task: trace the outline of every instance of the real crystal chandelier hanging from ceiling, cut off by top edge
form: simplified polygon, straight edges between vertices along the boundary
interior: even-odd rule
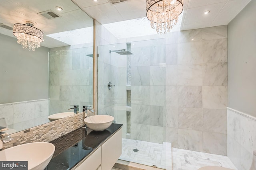
[[[157,33],[166,34],[178,23],[183,0],[146,0],[146,7],[151,28],[156,28]]]

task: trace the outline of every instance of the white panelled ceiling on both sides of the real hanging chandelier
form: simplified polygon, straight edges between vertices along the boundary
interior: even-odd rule
[[[251,0],[184,0],[181,30],[227,25]],[[101,24],[146,17],[146,0],[110,4],[108,0],[74,0]],[[207,16],[204,11],[210,11]]]

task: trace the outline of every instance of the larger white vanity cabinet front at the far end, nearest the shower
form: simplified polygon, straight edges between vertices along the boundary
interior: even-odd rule
[[[102,145],[101,170],[111,170],[122,154],[122,129]],[[80,169],[79,169],[80,170]]]

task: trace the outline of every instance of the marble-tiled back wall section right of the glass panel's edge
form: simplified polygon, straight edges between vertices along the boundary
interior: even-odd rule
[[[227,26],[174,32],[166,49],[165,140],[226,155]]]

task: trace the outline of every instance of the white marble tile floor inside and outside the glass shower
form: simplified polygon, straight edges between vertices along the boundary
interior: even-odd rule
[[[169,156],[168,159],[162,160],[162,162],[167,162],[168,166],[166,166],[166,170],[198,170],[198,168],[202,166],[222,166],[225,168],[231,168],[231,169],[237,170],[237,168],[234,166],[234,164],[231,162],[231,160],[227,156],[209,154],[204,152],[196,152],[192,150],[177,149],[177,148],[170,149],[171,145],[170,143],[167,143],[167,145],[168,144],[169,146],[167,147],[167,150],[172,150],[172,152],[168,152],[168,154],[171,154],[172,156],[170,157],[170,155],[168,155],[166,151],[164,152],[166,154],[165,156]],[[131,140],[131,139],[123,139],[122,145],[123,145],[122,155],[120,156],[119,159],[126,160],[129,162],[135,162],[135,163],[129,163],[129,162],[124,163],[132,167],[128,169],[133,170],[133,168],[136,169],[138,167],[142,167],[142,165],[140,164],[144,164],[150,167],[143,168],[143,169],[151,170],[153,161],[156,161],[156,162],[158,161],[158,163],[160,162],[159,161],[160,156],[149,156],[150,155],[149,152],[146,151],[149,149],[144,150],[143,151],[144,154],[138,154],[138,152],[133,152],[132,149],[134,149],[134,146],[136,146],[138,150],[140,150],[140,148],[143,148],[143,147],[145,148],[150,147],[150,149],[153,149],[153,148],[155,149],[154,155],[157,155],[157,154],[159,155],[158,152],[160,152],[159,150],[160,150],[161,144],[148,143],[144,141],[137,141],[137,140]],[[163,144],[162,148],[166,149],[166,144]],[[148,158],[148,161],[146,160],[147,158]],[[170,159],[172,160],[170,161]],[[120,160],[118,161],[120,162]],[[170,163],[172,166],[169,165]],[[156,163],[154,162],[154,164]],[[157,167],[165,169],[165,167],[163,166],[160,167],[160,166],[157,166]],[[143,167],[146,167],[146,166],[143,166]],[[120,169],[113,168],[113,170],[120,170]]]

